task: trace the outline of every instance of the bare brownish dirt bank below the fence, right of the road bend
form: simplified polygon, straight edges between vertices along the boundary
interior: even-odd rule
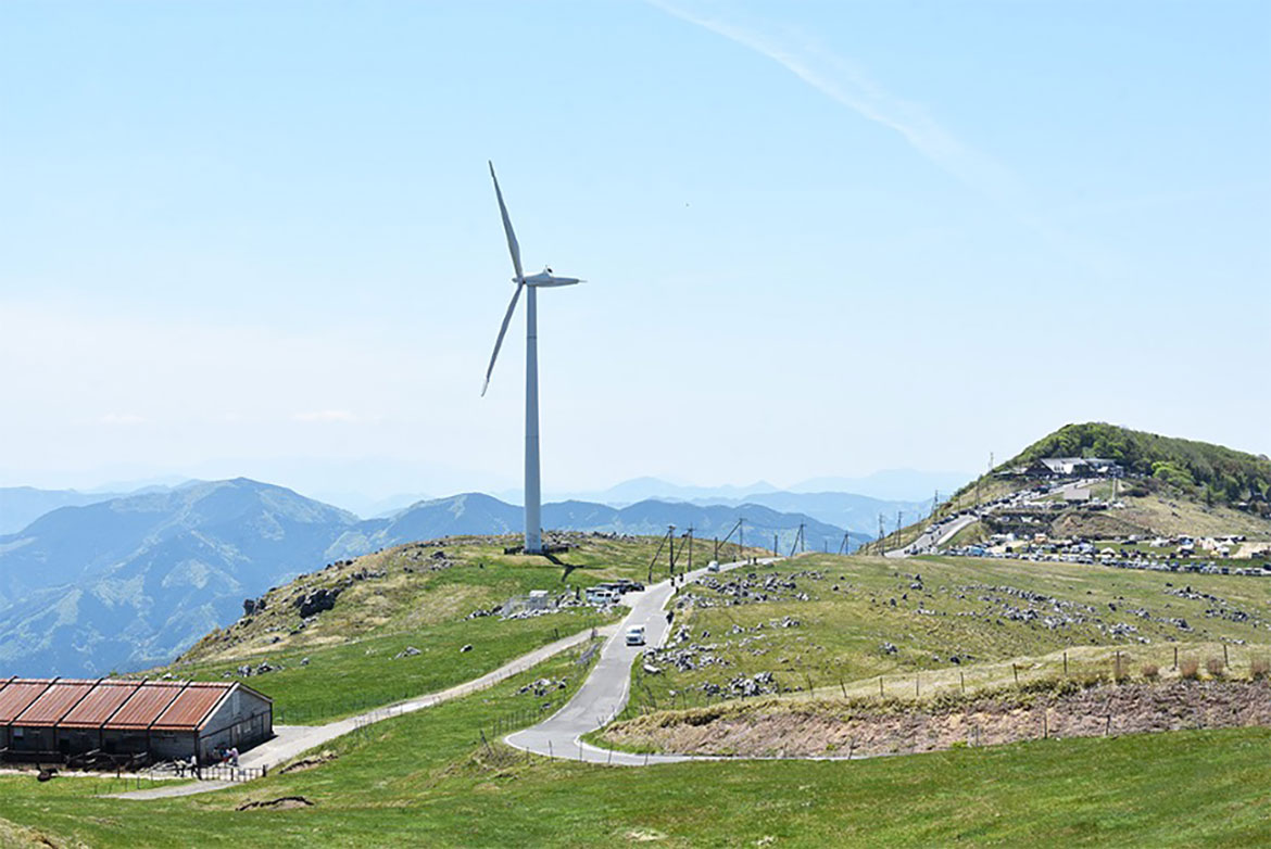
[[[990,746],[1040,737],[1271,726],[1266,681],[1171,681],[1060,688],[967,699],[961,704],[858,707],[819,702],[719,712],[702,722],[652,714],[605,738],[662,752],[741,756],[869,756]]]

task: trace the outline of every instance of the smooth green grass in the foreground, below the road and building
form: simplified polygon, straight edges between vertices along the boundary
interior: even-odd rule
[[[0,778],[0,817],[52,845],[128,849],[1271,841],[1266,730],[1038,741],[853,763],[647,769],[526,759],[482,745],[479,728],[525,704],[520,684],[571,671],[572,690],[582,670],[561,658],[487,693],[336,741],[338,757],[320,768],[207,796],[126,802],[94,798],[89,779]],[[314,805],[235,811],[282,796]]]

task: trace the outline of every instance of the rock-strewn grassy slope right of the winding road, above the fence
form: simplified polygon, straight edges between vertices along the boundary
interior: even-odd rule
[[[877,694],[882,676],[886,694],[902,695],[914,691],[915,672],[921,674],[919,689],[924,681],[961,686],[962,677],[970,688],[996,686],[1013,681],[1017,671],[1021,680],[1055,675],[1065,649],[1073,675],[1110,674],[1118,651],[1132,670],[1153,662],[1168,675],[1174,646],[1204,662],[1223,656],[1224,643],[1232,665],[1248,670],[1271,643],[1271,581],[1261,578],[1077,563],[826,554],[721,577],[735,581],[749,574],[758,583],[769,576],[792,578],[796,590],[783,590],[787,597],[773,601],[679,609],[672,630],[686,625],[690,639],[671,648],[695,644],[697,669],[680,671],[661,662],[661,671],[651,675],[637,663],[632,710],[700,705],[712,700],[703,685],[760,672],[771,672],[784,693]],[[694,585],[679,599],[686,592],[728,601]],[[808,600],[791,599],[793,592]],[[1059,611],[1055,601],[1063,605]],[[1054,627],[1045,621],[1065,615],[1083,621]],[[782,627],[787,618],[798,625]],[[1178,627],[1179,620],[1187,629]]]

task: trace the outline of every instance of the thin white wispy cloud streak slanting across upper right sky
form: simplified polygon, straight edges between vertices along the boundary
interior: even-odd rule
[[[770,58],[831,100],[896,132],[923,158],[998,205],[1060,253],[1101,276],[1108,273],[1108,258],[1078,244],[1070,234],[1046,220],[1008,168],[965,144],[921,105],[888,92],[817,38],[784,24],[749,19],[735,8],[718,13],[669,0],[644,1]]]

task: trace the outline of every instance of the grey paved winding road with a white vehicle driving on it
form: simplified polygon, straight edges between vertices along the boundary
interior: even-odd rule
[[[775,559],[764,558],[758,562],[765,564]],[[719,568],[727,571],[742,566],[750,566],[750,562],[727,563]],[[693,581],[705,573],[707,569],[695,569],[684,576],[684,581]],[[503,740],[510,746],[536,755],[585,760],[594,764],[642,766],[644,764],[671,764],[690,760],[685,755],[646,756],[610,751],[580,740],[582,735],[608,723],[627,707],[632,663],[644,651],[643,646],[627,644],[627,629],[633,625],[644,625],[647,643],[653,647],[663,646],[670,630],[663,608],[674,595],[675,591],[670,581],[655,583],[641,594],[628,594],[624,601],[629,600],[632,611],[623,620],[618,633],[605,642],[600,651],[600,660],[587,680],[583,681],[582,688],[548,719],[531,728],[513,732]]]

